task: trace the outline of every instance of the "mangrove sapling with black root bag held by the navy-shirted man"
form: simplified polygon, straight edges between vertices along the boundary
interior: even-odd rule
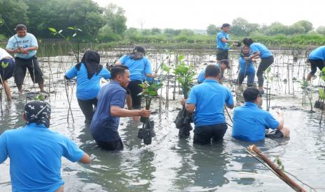
[[[164,84],[158,84],[154,81],[151,85],[145,82],[139,86],[144,89],[143,93],[140,93],[139,95],[143,95],[145,97],[145,109],[149,110],[152,102],[152,97],[158,96],[157,91],[159,88],[164,86]],[[138,138],[143,139],[143,143],[145,143],[145,145],[150,145],[152,142],[152,137],[155,136],[154,121],[150,120],[149,118],[141,117],[140,122],[143,122],[143,127],[138,131]]]

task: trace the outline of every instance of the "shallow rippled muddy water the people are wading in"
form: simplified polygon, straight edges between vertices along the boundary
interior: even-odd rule
[[[236,56],[233,58],[236,63]],[[44,58],[42,65],[46,82],[52,92],[47,99],[52,106],[50,129],[71,138],[92,158],[90,165],[71,163],[62,159],[62,177],[66,183],[66,191],[291,191],[287,184],[247,154],[245,149],[252,143],[231,138],[231,127],[223,141],[208,146],[193,145],[193,133],[190,138],[179,139],[178,129],[175,128],[173,120],[180,108],[177,101],[181,98],[180,95],[176,95],[175,102],[169,101],[169,109],[162,106],[160,115],[159,101],[158,99],[154,101],[152,118],[155,120],[154,129],[157,136],[153,139],[152,145],[144,145],[136,137],[138,127],[141,127],[140,123],[133,122],[131,118],[121,118],[119,130],[124,142],[124,151],[112,153],[99,150],[78,108],[75,87],[72,89],[74,82],[68,87],[69,97],[72,95],[73,118],[71,114],[67,118],[68,99],[62,73],[64,69],[73,65],[73,61],[69,61],[66,57],[62,57],[61,60],[59,57],[50,58],[49,62],[47,59]],[[305,65],[303,59],[298,60],[298,63]],[[200,57],[198,65],[203,67],[204,63],[211,60],[213,56]],[[274,76],[269,85],[272,87],[273,95],[270,112],[275,113],[277,108],[284,111],[284,123],[291,129],[291,137],[279,140],[266,138],[266,141],[254,144],[258,145],[270,159],[279,157],[287,172],[296,175],[317,191],[325,191],[325,128],[324,124],[319,127],[321,113],[317,109],[315,113],[310,113],[309,106],[301,104],[299,83],[294,83],[294,87],[284,83],[287,73],[291,73],[291,70],[297,79],[302,79],[303,71],[309,68],[298,68],[298,64],[292,63],[289,56],[278,55],[275,61],[270,72]],[[52,77],[49,63],[52,67]],[[287,70],[286,63],[289,63],[292,69]],[[236,67],[233,67],[232,72],[227,72],[226,78],[236,79]],[[292,79],[291,74],[289,79]],[[13,79],[10,79],[10,83],[13,83]],[[317,79],[314,83],[316,86]],[[229,81],[226,85],[231,86]],[[29,92],[38,90],[33,88],[29,79],[24,88],[26,91],[23,95],[18,95],[16,88],[13,88],[13,102],[6,104],[2,101],[0,133],[24,125],[21,118],[24,104],[30,100]],[[232,86],[231,89],[235,95],[236,87]],[[171,88],[170,99],[173,97],[172,91]],[[166,104],[166,94],[162,95],[165,98],[163,104]],[[317,94],[314,93],[313,97],[315,100]],[[10,112],[6,109],[7,105]],[[228,116],[226,119],[231,125]],[[1,191],[10,191],[8,159],[0,165],[0,173]]]

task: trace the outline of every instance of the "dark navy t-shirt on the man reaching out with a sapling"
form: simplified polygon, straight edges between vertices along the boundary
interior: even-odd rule
[[[110,142],[120,139],[117,131],[120,117],[110,115],[110,106],[123,109],[126,95],[127,91],[114,80],[101,88],[97,96],[96,111],[90,124],[90,132],[94,140]]]

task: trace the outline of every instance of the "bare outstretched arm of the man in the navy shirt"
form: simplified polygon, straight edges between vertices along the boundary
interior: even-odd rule
[[[148,118],[150,116],[151,111],[146,109],[141,110],[128,110],[128,109],[122,109],[119,106],[110,106],[110,114],[113,117],[135,117],[135,116],[141,116],[144,118]]]

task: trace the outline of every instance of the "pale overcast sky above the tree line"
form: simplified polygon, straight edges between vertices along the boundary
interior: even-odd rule
[[[93,0],[99,6],[115,3],[125,10],[127,26],[144,29],[206,29],[209,24],[220,26],[231,23],[237,17],[248,22],[271,24],[281,22],[290,25],[305,19],[314,25],[325,26],[325,1],[289,0]]]

